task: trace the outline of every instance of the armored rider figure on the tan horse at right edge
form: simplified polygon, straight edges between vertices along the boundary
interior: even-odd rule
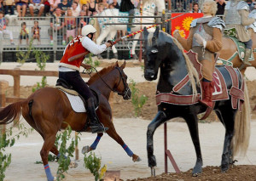
[[[251,65],[248,59],[252,54],[253,41],[246,29],[246,25],[254,23],[254,18],[249,18],[249,6],[241,0],[230,0],[227,2],[224,11],[224,21],[228,29],[235,28],[237,39],[246,46],[243,64]]]

